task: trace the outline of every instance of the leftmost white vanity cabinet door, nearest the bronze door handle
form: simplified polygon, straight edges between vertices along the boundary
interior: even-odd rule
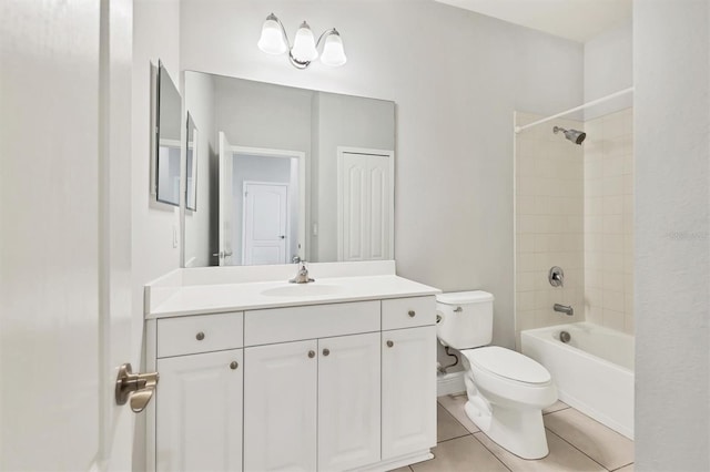
[[[242,355],[158,360],[156,470],[242,470]]]

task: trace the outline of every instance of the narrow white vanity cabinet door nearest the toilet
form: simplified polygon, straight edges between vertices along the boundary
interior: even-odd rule
[[[382,459],[436,445],[436,327],[382,332]]]

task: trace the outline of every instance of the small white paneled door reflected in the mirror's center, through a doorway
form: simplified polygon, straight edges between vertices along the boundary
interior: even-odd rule
[[[285,264],[288,185],[244,183],[245,266]]]

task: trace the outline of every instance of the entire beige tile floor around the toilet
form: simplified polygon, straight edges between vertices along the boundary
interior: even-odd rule
[[[466,396],[438,398],[438,444],[430,461],[394,472],[633,472],[633,441],[558,401],[544,411],[550,453],[527,461],[490,441],[466,417]]]

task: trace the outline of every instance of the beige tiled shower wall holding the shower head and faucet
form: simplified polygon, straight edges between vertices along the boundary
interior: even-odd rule
[[[539,116],[518,113],[517,124]],[[584,150],[552,126],[582,130],[574,120],[548,122],[516,137],[516,339],[524,329],[585,319]],[[548,271],[565,270],[552,287]],[[570,305],[574,316],[552,310]]]

